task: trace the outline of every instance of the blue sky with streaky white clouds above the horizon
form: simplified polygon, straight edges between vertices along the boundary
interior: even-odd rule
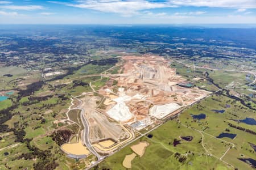
[[[0,24],[255,24],[256,0],[0,0]]]

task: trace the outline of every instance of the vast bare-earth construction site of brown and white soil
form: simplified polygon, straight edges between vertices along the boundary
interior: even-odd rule
[[[122,61],[122,73],[108,74],[104,87],[79,99],[90,127],[89,141],[101,155],[112,154],[139,131],[153,129],[209,95],[199,88],[179,86],[186,80],[163,57],[123,56]]]

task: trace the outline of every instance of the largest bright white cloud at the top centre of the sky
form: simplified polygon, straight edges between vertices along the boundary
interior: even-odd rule
[[[55,1],[48,1],[52,3],[59,3]],[[65,3],[67,6],[88,8],[101,12],[110,12],[122,14],[123,16],[130,16],[138,14],[141,10],[149,10],[153,8],[176,7],[167,2],[150,2],[146,0],[88,0],[76,1],[77,3]]]

